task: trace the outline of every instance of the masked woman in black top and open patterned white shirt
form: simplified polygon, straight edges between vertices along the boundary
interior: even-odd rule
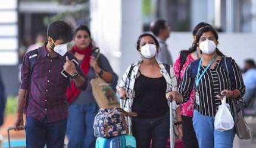
[[[138,114],[138,117],[132,118],[132,133],[137,147],[148,148],[151,140],[154,148],[166,147],[170,136],[170,109],[166,93],[176,90],[176,76],[172,66],[156,60],[160,47],[152,34],[141,34],[136,49],[142,59],[127,68],[117,85],[117,91],[121,98],[128,96],[131,99],[130,108]],[[173,121],[177,121],[175,112],[173,117]],[[180,115],[177,118],[180,127]],[[182,128],[179,128],[179,134],[181,138]]]

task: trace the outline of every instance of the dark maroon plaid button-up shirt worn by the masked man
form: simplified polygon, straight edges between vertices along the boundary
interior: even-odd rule
[[[46,44],[38,49],[38,56],[33,65],[33,72],[30,72],[30,52],[27,53],[21,67],[21,89],[29,90],[29,98],[24,108],[24,113],[43,121],[46,117],[49,123],[64,120],[67,118],[68,104],[66,90],[70,83],[69,78],[61,75],[65,56],[75,59],[71,53],[65,56],[50,57],[46,51]],[[79,75],[83,75],[80,66],[77,66]],[[85,90],[87,81],[79,89]]]

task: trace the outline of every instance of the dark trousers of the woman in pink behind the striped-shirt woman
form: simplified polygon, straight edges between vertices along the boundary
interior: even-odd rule
[[[193,129],[192,117],[182,115],[183,138],[182,141],[186,148],[198,148],[195,130]]]

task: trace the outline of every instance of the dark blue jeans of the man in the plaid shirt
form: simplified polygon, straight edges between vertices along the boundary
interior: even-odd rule
[[[63,148],[67,120],[48,123],[47,119],[42,122],[33,117],[26,117],[26,145],[27,148]]]

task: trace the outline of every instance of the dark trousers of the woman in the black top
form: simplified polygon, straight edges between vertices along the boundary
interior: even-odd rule
[[[132,118],[132,133],[138,148],[150,147],[151,139],[153,148],[165,148],[170,136],[169,128],[169,114],[153,119]]]

